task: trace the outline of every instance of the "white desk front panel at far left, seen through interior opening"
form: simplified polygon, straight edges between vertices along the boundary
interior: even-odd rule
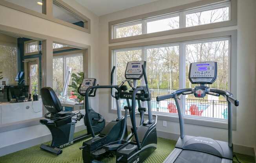
[[[0,103],[0,125],[42,117],[42,100]]]

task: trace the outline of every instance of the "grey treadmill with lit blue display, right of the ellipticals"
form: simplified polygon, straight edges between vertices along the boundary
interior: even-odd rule
[[[232,104],[239,105],[232,93],[212,89],[206,84],[212,84],[217,78],[217,62],[196,62],[190,64],[188,78],[192,84],[200,84],[194,88],[179,89],[171,94],[158,96],[157,101],[174,98],[180,125],[180,138],[175,149],[165,159],[164,163],[232,163]],[[181,95],[194,94],[204,98],[206,94],[224,96],[228,102],[228,142],[205,137],[194,137],[184,134],[184,120],[181,111]],[[183,106],[184,107],[184,106]]]

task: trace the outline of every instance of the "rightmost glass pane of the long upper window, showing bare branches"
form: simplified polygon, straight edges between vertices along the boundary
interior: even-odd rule
[[[186,14],[186,27],[229,20],[229,7]]]

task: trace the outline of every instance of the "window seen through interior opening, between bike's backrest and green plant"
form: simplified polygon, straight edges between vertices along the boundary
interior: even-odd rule
[[[69,69],[71,69],[70,73],[68,73]],[[83,54],[72,54],[53,58],[53,90],[61,102],[77,102],[77,96],[74,95],[77,90],[69,86],[65,88],[65,85],[71,85],[71,76],[79,76],[81,72],[83,72]],[[67,90],[66,92],[65,89]]]

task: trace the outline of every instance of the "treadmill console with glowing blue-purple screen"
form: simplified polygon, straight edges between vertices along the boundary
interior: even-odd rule
[[[192,84],[212,84],[217,78],[217,62],[190,63],[188,78]]]

